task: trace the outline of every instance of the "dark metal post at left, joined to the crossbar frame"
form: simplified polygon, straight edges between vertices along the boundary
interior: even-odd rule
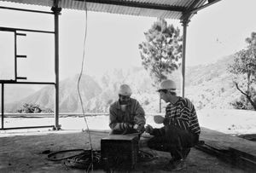
[[[60,130],[59,124],[59,14],[61,8],[52,7],[55,14],[55,130]]]

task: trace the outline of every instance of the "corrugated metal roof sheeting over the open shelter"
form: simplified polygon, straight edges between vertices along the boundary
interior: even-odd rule
[[[54,6],[54,0],[0,0],[41,6]],[[78,9],[113,14],[131,14],[181,19],[188,9],[201,7],[207,0],[59,0],[62,9]],[[189,18],[193,14],[189,14]]]

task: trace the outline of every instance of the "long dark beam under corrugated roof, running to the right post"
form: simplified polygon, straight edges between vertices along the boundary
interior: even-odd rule
[[[74,0],[74,1],[84,2],[84,0]],[[177,11],[177,12],[185,11],[185,8],[183,7],[170,6],[166,4],[139,3],[139,2],[129,2],[129,1],[120,1],[120,0],[86,0],[86,3],[101,3],[101,4],[133,7],[133,8],[160,9],[160,10]]]

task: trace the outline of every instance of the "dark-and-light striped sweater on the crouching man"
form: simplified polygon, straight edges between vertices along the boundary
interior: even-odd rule
[[[165,124],[175,125],[197,135],[201,132],[194,105],[183,97],[179,97],[175,104],[167,105]]]

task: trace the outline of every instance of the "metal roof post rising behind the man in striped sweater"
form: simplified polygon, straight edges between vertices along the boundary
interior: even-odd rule
[[[186,68],[186,38],[187,38],[187,26],[189,24],[189,20],[182,20],[183,26],[183,58],[182,58],[182,82],[181,88],[182,93],[181,95],[185,96],[185,68]]]

